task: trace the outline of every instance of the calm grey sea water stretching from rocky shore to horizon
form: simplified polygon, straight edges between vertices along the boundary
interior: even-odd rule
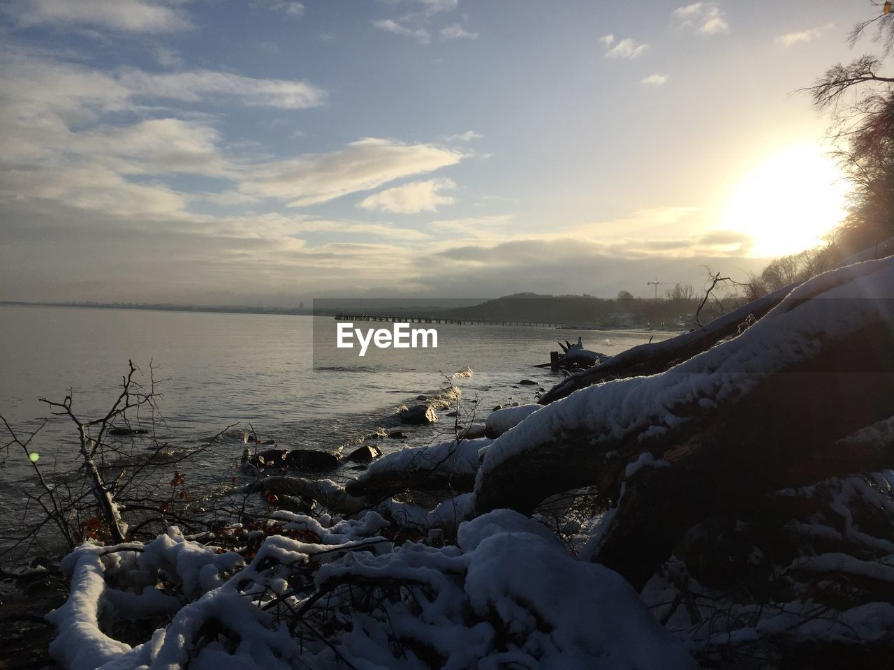
[[[321,316],[0,306],[0,415],[22,432],[33,430],[49,415],[38,397],[61,400],[71,389],[75,413],[96,418],[114,402],[132,359],[143,383],[150,364],[155,368],[156,388],[164,393],[161,436],[174,445],[195,445],[238,422],[239,429],[250,424],[283,448],[337,448],[374,430],[395,406],[439,388],[442,372],[474,371],[454,381],[467,401],[479,400],[482,416],[497,404],[533,402],[536,386],[513,388],[521,379],[544,388],[558,381],[548,369],[532,367],[549,361],[557,339],[581,334],[588,348],[616,354],[651,337],[439,325],[447,344],[426,353],[426,369],[393,372],[368,363],[353,369],[343,360],[327,366],[319,358],[315,369],[315,319],[325,320],[316,322],[318,329],[332,330],[332,320]],[[35,440],[38,465],[49,475],[74,464],[73,428],[55,419]],[[431,432],[417,431],[410,444],[414,437],[431,440]],[[383,446],[407,443],[385,440]],[[192,467],[207,480],[228,481],[241,448],[236,440],[224,441]],[[12,451],[0,466],[0,505],[13,515],[31,476],[20,452]]]

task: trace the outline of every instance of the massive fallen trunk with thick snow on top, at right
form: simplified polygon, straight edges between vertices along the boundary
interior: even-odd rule
[[[894,415],[892,297],[894,259],[827,272],[667,373],[545,406],[487,449],[477,513],[595,485],[616,507],[588,553],[641,588],[709,511],[890,468],[891,441],[839,440]]]

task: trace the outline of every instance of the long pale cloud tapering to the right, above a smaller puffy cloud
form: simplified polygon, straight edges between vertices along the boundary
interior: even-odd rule
[[[316,205],[389,181],[433,172],[464,157],[459,151],[434,145],[365,138],[329,154],[255,165],[241,188],[252,195],[287,200],[291,207]]]

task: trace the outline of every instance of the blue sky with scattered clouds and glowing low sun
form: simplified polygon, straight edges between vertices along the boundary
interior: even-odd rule
[[[0,299],[744,280],[840,219],[830,119],[798,89],[873,51],[845,38],[875,11],[5,0]]]

